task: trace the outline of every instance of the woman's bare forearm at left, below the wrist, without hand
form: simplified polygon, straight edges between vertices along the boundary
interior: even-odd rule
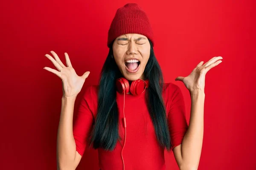
[[[75,100],[76,97],[62,97],[61,99],[61,115],[57,135],[58,169],[73,166],[76,156],[76,143],[73,136],[73,112]]]

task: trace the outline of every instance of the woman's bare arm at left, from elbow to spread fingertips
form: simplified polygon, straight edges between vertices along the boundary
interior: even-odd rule
[[[78,76],[72,67],[67,53],[64,53],[67,64],[65,66],[54,51],[50,52],[54,58],[49,54],[45,54],[45,57],[53,63],[57,70],[49,67],[44,67],[44,69],[61,79],[63,90],[57,135],[57,169],[75,170],[81,160],[81,155],[76,151],[76,142],[73,135],[74,105],[76,96],[81,91],[90,71],[85,72],[82,76]]]

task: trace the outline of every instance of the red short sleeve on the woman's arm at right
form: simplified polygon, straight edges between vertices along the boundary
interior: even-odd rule
[[[186,111],[183,94],[177,85],[173,85],[171,102],[168,113],[169,132],[171,137],[172,150],[182,143],[183,137],[188,129],[186,122]]]

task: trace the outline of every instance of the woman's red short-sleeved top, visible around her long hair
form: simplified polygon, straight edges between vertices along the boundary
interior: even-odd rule
[[[163,99],[166,106],[172,150],[182,143],[188,129],[185,118],[185,105],[180,88],[173,83],[165,83]],[[77,119],[73,127],[76,150],[82,156],[97,110],[97,89],[91,85],[85,90],[79,105]],[[119,135],[123,140],[116,143],[113,151],[98,148],[99,167],[101,170],[122,170],[122,146],[125,128],[123,125],[123,94],[116,92],[119,111]],[[126,142],[123,150],[125,170],[165,170],[164,150],[159,147],[154,126],[149,115],[145,93],[140,96],[125,94]],[[121,144],[122,143],[122,144]]]

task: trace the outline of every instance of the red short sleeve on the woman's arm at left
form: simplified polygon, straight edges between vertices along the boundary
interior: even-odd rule
[[[83,156],[87,146],[87,139],[93,125],[93,96],[92,86],[88,86],[79,104],[78,113],[73,125],[73,136],[76,142],[76,151]]]

